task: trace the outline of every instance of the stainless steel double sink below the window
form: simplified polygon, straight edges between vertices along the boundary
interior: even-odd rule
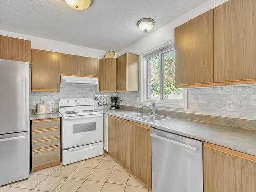
[[[143,121],[159,121],[159,120],[164,120],[164,119],[169,119],[169,117],[164,117],[160,115],[153,115],[150,113],[129,113],[129,114],[123,114],[123,116],[126,117],[131,117],[135,118],[138,120],[143,120]]]

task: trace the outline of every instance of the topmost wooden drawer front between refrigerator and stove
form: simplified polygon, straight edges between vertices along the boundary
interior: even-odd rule
[[[32,120],[32,131],[60,127],[60,118]]]

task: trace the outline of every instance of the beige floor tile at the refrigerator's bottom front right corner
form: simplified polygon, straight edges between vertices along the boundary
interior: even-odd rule
[[[24,181],[18,183],[17,185],[15,185],[15,187],[32,189],[36,185],[38,185],[39,183],[44,181],[47,177],[48,176],[46,176],[46,175],[33,174],[27,180],[24,180]]]

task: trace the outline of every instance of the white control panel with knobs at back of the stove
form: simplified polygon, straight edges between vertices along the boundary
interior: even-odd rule
[[[59,106],[88,106],[94,105],[93,98],[59,99]]]

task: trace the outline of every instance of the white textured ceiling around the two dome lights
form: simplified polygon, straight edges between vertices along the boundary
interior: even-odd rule
[[[206,0],[94,0],[76,11],[64,0],[0,1],[0,29],[101,50],[119,51]],[[155,20],[144,33],[137,21]]]

